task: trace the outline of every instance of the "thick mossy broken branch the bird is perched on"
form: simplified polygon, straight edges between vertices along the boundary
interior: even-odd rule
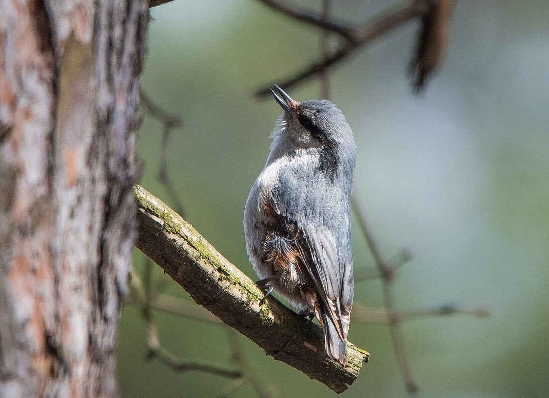
[[[191,297],[267,355],[341,393],[355,381],[369,354],[347,343],[348,365],[328,359],[319,326],[263,292],[229,263],[193,226],[158,198],[134,187],[139,221],[136,246]]]

